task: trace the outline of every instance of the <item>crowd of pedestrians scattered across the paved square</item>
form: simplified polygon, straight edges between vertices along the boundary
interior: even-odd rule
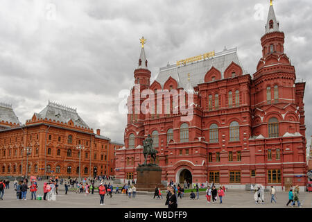
[[[129,180],[128,184],[124,184],[121,187],[121,193],[119,192],[119,186],[117,185],[114,187],[111,182],[105,182],[105,180],[110,180],[112,177],[110,176],[103,176],[103,177],[96,177],[96,178],[83,178],[83,180],[79,180],[78,178],[70,178],[70,179],[63,179],[63,178],[49,178],[48,182],[44,182],[42,187],[43,189],[43,200],[56,200],[56,195],[58,195],[58,187],[60,185],[64,185],[65,195],[69,189],[73,189],[76,194],[94,194],[94,190],[98,189],[98,193],[100,195],[100,205],[104,204],[104,197],[105,194],[112,198],[112,193],[114,194],[125,194],[128,198],[135,198],[137,194],[137,187],[135,184],[135,180]],[[96,182],[99,182],[99,185],[96,186]],[[24,180],[15,180],[13,182],[14,189],[16,191],[17,200],[26,200],[28,190],[31,192],[31,200],[37,199],[37,191],[39,189],[36,180],[31,180],[28,184],[27,178]],[[59,185],[60,184],[60,185]],[[185,194],[185,189],[189,189],[191,184],[189,182],[184,182],[184,184],[177,186],[171,180],[167,187],[166,193],[166,205],[168,208],[176,208],[177,207],[177,199],[180,197],[182,199]],[[200,189],[204,188],[203,184],[198,185],[197,183],[193,184],[193,189],[191,188],[191,192],[189,197],[192,200],[200,198]],[[257,204],[264,203],[264,188],[262,185],[251,185],[250,187],[251,193],[254,194],[254,199],[256,200]],[[5,189],[10,189],[10,181],[9,180],[0,180],[0,199],[3,200],[3,194]],[[75,190],[76,189],[76,190]],[[194,192],[196,191],[196,193]],[[223,197],[225,196],[227,189],[224,185],[220,185],[220,187],[216,188],[214,183],[211,183],[210,186],[207,186],[206,189],[206,198],[207,203],[217,203],[218,199],[220,200],[220,204],[223,203]],[[288,203],[286,206],[288,207],[290,204],[291,206],[295,206],[297,203],[298,207],[302,207],[300,204],[299,199],[299,186],[295,186],[295,188],[291,188],[288,192]],[[174,194],[174,195],[173,195]],[[154,199],[157,197],[158,199],[163,198],[162,191],[159,187],[155,187],[154,192]],[[41,196],[39,196],[39,199]],[[270,187],[270,203],[277,203],[277,194],[276,190],[273,186]]]

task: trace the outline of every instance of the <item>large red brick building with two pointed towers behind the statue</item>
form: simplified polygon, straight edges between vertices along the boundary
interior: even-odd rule
[[[236,49],[225,49],[160,68],[153,83],[142,38],[116,178],[136,178],[141,144],[151,135],[164,182],[304,187],[305,83],[296,82],[273,6],[265,30],[252,76]]]

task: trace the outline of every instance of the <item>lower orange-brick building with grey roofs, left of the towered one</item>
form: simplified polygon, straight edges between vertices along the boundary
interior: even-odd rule
[[[49,101],[21,125],[12,106],[0,103],[0,123],[0,176],[114,176],[111,149],[123,145],[95,134],[76,109]]]

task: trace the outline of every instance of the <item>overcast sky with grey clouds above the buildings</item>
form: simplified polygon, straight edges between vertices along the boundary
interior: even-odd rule
[[[312,127],[312,1],[276,0],[285,50],[306,81],[306,137]],[[269,0],[1,0],[0,101],[25,123],[48,100],[77,108],[92,128],[123,142],[119,92],[134,83],[139,38],[152,78],[159,67],[237,47],[254,74]]]

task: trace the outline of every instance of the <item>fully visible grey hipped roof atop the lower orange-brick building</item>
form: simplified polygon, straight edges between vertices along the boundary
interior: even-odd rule
[[[76,126],[89,128],[83,119],[79,117],[76,109],[68,108],[64,105],[52,103],[50,101],[44,110],[42,110],[40,113],[35,113],[35,115],[38,118],[51,119],[52,121],[55,120],[63,123],[68,123],[70,120],[72,120]]]

